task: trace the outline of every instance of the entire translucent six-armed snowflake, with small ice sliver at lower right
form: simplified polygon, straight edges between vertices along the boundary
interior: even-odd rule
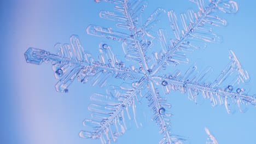
[[[199,73],[194,63],[183,74],[171,67],[188,64],[187,52],[204,49],[206,43],[221,43],[222,37],[212,33],[212,27],[226,25],[217,14],[235,14],[236,2],[210,0],[206,5],[203,0],[190,0],[197,4],[198,11],[189,9],[178,17],[173,10],[158,8],[144,20],[142,13],[147,7],[146,1],[101,1],[114,4],[114,12],[102,10],[100,17],[116,21],[117,28],[90,25],[86,32],[117,41],[118,48],[123,47],[125,61],[121,61],[106,42],[100,43],[101,54],[93,58],[83,49],[77,35],[72,35],[70,44],[56,44],[56,54],[36,48],[25,52],[28,63],[53,64],[55,77],[59,79],[55,87],[59,92],[68,92],[74,79],[106,88],[104,94],[91,95],[88,109],[92,119],[85,119],[83,124],[92,129],[81,131],[80,137],[100,139],[101,143],[115,142],[129,125],[142,125],[138,115],[143,112],[138,107],[145,106],[141,105],[142,99],[147,99],[153,111],[152,121],[159,126],[162,135],[159,143],[187,143],[187,138],[171,131],[171,104],[166,97],[171,91],[187,93],[196,104],[201,103],[202,98],[210,99],[212,106],[224,104],[228,113],[234,112],[234,105],[245,112],[248,105],[256,104],[255,95],[249,95],[247,90],[249,75],[231,50],[230,63],[213,82],[207,82],[212,72],[210,67]],[[171,30],[157,27],[165,20]],[[113,79],[123,83],[111,85]],[[218,143],[209,130],[205,130],[209,136],[207,143]]]

